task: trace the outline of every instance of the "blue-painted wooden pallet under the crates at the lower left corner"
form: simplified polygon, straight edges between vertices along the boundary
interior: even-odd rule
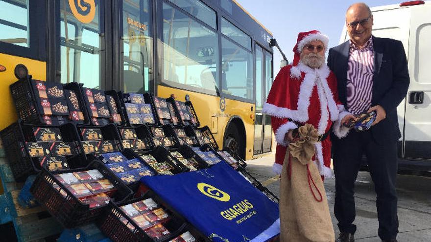
[[[4,154],[2,149],[0,154]],[[27,182],[24,187],[24,182],[15,182],[4,155],[0,157],[0,183],[0,226],[12,222],[19,242],[44,242],[45,238],[63,231],[47,211],[41,206],[34,206],[28,191],[31,184]],[[30,204],[34,207],[29,208]]]

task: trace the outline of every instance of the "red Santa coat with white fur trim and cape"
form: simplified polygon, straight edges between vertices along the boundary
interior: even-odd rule
[[[348,129],[341,126],[341,119],[348,114],[338,100],[335,74],[324,65],[319,69],[299,63],[285,66],[278,73],[269,92],[263,112],[271,115],[272,129],[277,141],[273,170],[281,174],[288,149],[285,136],[297,128],[297,123],[313,125],[319,135],[329,132],[333,122],[338,137],[347,135]],[[331,140],[328,136],[315,144],[313,161],[320,175],[332,177]]]

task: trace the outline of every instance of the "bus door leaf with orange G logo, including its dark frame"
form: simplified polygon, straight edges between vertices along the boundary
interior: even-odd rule
[[[109,2],[55,1],[56,82],[111,88]]]

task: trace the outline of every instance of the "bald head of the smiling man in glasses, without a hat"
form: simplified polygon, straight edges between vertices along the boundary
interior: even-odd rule
[[[373,15],[370,7],[363,2],[352,4],[346,11],[346,25],[350,40],[362,47],[371,37]]]

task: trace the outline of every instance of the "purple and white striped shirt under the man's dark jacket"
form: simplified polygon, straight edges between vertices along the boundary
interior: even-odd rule
[[[359,114],[371,107],[374,72],[373,37],[362,48],[350,42],[347,68],[347,110]]]

